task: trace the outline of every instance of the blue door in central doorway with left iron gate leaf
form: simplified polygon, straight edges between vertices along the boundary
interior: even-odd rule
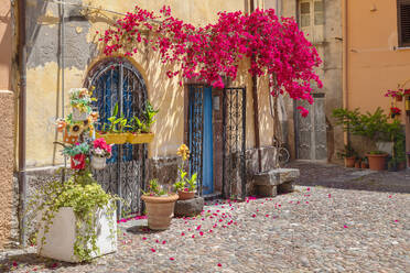
[[[212,87],[190,87],[190,170],[198,174],[198,193],[214,193]]]

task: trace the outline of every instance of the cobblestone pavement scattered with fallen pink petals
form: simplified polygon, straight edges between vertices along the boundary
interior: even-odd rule
[[[203,216],[173,219],[162,232],[130,220],[121,223],[118,252],[93,263],[47,261],[33,249],[0,253],[0,263],[6,272],[409,272],[407,172],[393,174],[401,177],[395,190],[386,192],[384,181],[375,183],[380,190],[357,190],[349,183],[391,174],[359,176],[330,165],[315,173],[310,164],[292,166],[298,164],[302,177],[292,194],[214,201]]]

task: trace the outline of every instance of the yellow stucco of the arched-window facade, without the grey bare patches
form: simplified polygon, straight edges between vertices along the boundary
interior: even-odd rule
[[[133,9],[134,1],[111,1],[111,0],[91,0],[83,1],[84,4],[94,7],[104,7],[108,10],[127,12]],[[138,4],[147,10],[159,11],[163,4],[171,6],[173,14],[195,25],[204,25],[214,22],[217,19],[218,11],[246,10],[246,1],[237,0],[169,0],[150,1],[142,0]],[[45,11],[46,17],[42,17],[42,22],[46,22],[47,28],[55,28],[53,14]],[[115,17],[108,12],[94,13],[88,17],[91,26],[86,35],[89,43],[97,43],[96,31],[104,31],[112,22]],[[84,30],[80,30],[84,31]],[[80,70],[77,68],[65,69],[65,90],[83,86],[87,72],[93,64],[105,58],[100,55]],[[152,131],[155,133],[154,141],[149,145],[149,156],[159,157],[174,155],[184,136],[184,97],[183,87],[179,86],[180,78],[169,79],[165,75],[170,67],[161,64],[158,53],[149,48],[141,48],[132,59],[130,59],[139,69],[145,80],[148,96],[155,108],[160,109],[157,116],[157,123]],[[247,87],[247,148],[253,148],[253,107],[251,97],[251,77],[248,74],[248,61],[240,64],[240,74],[233,83],[233,86]],[[260,121],[262,145],[271,144],[271,118],[269,112],[268,88],[263,80],[260,80]],[[61,112],[61,98],[57,96],[61,90],[61,77],[58,77],[58,66],[55,62],[46,63],[44,66],[37,66],[28,70],[28,166],[41,167],[51,164],[60,164],[62,157],[58,148],[52,144],[56,139],[53,122]],[[60,95],[61,96],[61,95]],[[68,99],[66,99],[68,102]],[[66,112],[71,109],[65,108]],[[268,136],[269,135],[269,136]],[[61,136],[60,136],[61,138]]]

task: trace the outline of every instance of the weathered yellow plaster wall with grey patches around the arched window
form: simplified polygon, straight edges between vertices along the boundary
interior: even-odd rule
[[[105,9],[126,12],[133,9],[134,1],[112,2],[108,0],[75,1],[77,3],[104,7]],[[183,20],[204,25],[217,18],[223,10],[235,11],[248,9],[247,1],[139,1],[143,9],[158,11],[163,4],[170,4],[174,14]],[[69,88],[83,86],[87,72],[99,59],[96,31],[107,29],[116,19],[108,12],[80,10],[66,7],[66,43],[65,43],[65,94]],[[40,167],[60,164],[62,157],[53,141],[57,140],[53,125],[61,116],[62,77],[58,70],[58,7],[47,1],[29,0],[28,7],[29,63],[28,63],[28,165]],[[155,140],[149,145],[149,157],[172,156],[183,142],[184,99],[180,78],[168,79],[165,73],[170,67],[160,64],[159,55],[150,48],[141,51],[130,59],[143,76],[149,99],[160,109],[157,124],[152,130]],[[251,78],[248,75],[248,63],[240,65],[240,75],[233,86],[247,87],[247,148],[253,148],[253,117],[251,100]],[[263,85],[260,85],[263,86]],[[266,85],[265,85],[266,87]],[[267,100],[268,89],[260,88],[261,135],[270,134],[270,113]],[[68,99],[66,99],[66,102]],[[66,112],[69,108],[65,106]],[[35,131],[35,133],[34,133]],[[271,142],[271,136],[262,140],[263,145]]]

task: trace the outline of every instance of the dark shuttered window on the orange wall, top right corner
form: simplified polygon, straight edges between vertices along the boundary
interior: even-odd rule
[[[397,0],[399,46],[410,46],[410,0]]]

